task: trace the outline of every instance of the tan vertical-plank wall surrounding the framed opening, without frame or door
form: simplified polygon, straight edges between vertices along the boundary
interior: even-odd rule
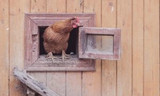
[[[96,72],[34,72],[61,96],[160,96],[159,0],[0,0],[0,96],[24,96],[24,13],[96,13],[96,26],[122,30],[119,61]],[[104,42],[103,40],[102,42]]]

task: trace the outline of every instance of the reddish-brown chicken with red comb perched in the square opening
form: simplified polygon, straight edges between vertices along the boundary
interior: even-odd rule
[[[65,51],[68,47],[70,32],[73,28],[77,28],[79,26],[79,18],[73,17],[67,20],[58,21],[47,27],[43,34],[43,45],[45,51],[48,53],[47,57],[51,58],[53,61],[57,57],[53,56],[52,53],[62,53],[63,61],[65,58],[68,58],[68,55],[65,53]]]

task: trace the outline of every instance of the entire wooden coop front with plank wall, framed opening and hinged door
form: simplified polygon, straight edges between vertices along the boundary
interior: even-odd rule
[[[29,83],[15,78],[15,67],[53,96],[159,96],[159,6],[159,0],[1,0],[0,96],[26,96]],[[84,25],[71,32],[71,59],[47,61],[44,30],[70,17]]]

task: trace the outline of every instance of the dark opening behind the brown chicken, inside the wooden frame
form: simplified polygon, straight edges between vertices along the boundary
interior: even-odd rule
[[[43,46],[43,33],[48,26],[39,26],[39,54],[46,55],[44,46]],[[70,32],[70,37],[68,40],[68,48],[66,50],[66,54],[70,54],[72,56],[77,56],[78,51],[78,28],[73,29]],[[60,54],[54,54],[55,56],[59,56]]]

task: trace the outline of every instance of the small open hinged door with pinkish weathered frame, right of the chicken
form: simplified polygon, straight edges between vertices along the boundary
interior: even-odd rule
[[[118,60],[120,32],[118,28],[79,28],[79,58]]]

